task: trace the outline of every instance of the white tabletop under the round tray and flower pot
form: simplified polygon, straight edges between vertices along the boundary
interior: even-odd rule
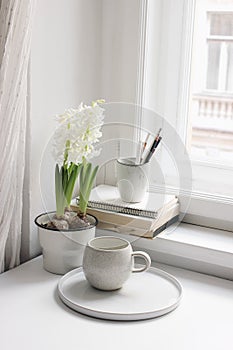
[[[57,295],[60,276],[44,271],[41,257],[0,275],[0,349],[231,349],[233,282],[154,266],[179,279],[183,299],[170,314],[134,322],[94,319],[67,308]]]

